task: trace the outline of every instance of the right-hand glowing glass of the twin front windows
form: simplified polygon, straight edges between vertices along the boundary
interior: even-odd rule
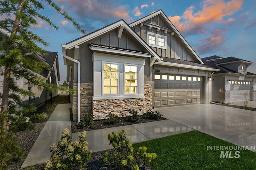
[[[124,71],[124,93],[137,93],[137,66],[125,65]]]

